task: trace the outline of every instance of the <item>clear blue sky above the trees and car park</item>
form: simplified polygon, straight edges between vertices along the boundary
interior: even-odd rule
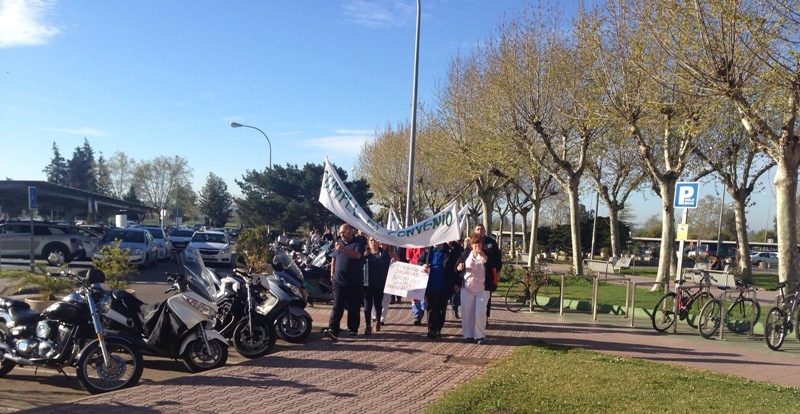
[[[419,102],[524,7],[422,0]],[[415,18],[414,0],[0,0],[0,178],[44,180],[52,143],[69,159],[86,138],[106,158],[183,156],[195,190],[213,172],[238,195],[269,147],[232,121],[269,136],[274,164],[349,170],[376,128],[410,118]],[[639,222],[660,211],[647,200]]]

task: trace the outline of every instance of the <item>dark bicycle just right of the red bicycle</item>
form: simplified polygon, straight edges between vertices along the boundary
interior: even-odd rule
[[[761,317],[761,305],[749,297],[751,292],[750,285],[741,279],[736,280],[736,290],[739,295],[733,299],[734,293],[728,297],[733,300],[731,306],[725,312],[725,325],[733,333],[741,334],[749,332],[753,323]],[[727,293],[728,286],[719,286],[723,292]],[[723,293],[723,294],[725,294]],[[717,333],[720,325],[720,311],[722,310],[722,301],[719,299],[711,299],[700,310],[700,321],[697,324],[697,332],[703,338],[711,338]],[[753,315],[755,313],[755,315]]]

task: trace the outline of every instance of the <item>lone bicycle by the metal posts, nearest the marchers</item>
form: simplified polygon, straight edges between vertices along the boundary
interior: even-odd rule
[[[542,309],[552,309],[561,297],[561,284],[553,280],[555,275],[544,264],[524,268],[525,277],[512,283],[506,290],[506,309],[519,312],[529,300]]]

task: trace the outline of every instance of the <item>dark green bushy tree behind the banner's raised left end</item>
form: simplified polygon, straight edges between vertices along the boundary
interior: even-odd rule
[[[333,225],[340,219],[319,203],[324,165],[308,163],[299,169],[296,165],[276,165],[264,171],[248,170],[236,183],[243,197],[236,199],[239,215],[246,226],[270,225],[290,231],[302,225],[308,227]],[[347,173],[340,167],[336,171],[342,180]],[[346,183],[356,201],[367,214],[372,214],[367,203],[372,198],[365,180]]]

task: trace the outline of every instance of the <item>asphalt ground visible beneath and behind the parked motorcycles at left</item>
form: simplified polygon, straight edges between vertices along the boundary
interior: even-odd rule
[[[89,265],[89,262],[77,262],[72,263],[71,267],[81,268]],[[12,267],[27,268],[27,262],[17,263],[3,259],[3,269]],[[212,269],[223,273],[231,271],[226,267]],[[136,296],[144,302],[153,303],[165,300],[172,295],[164,293],[170,287],[164,274],[168,271],[175,271],[175,265],[169,261],[161,262],[156,267],[139,270],[132,275],[130,288],[135,290]],[[319,335],[315,333],[310,340],[319,339],[318,337]],[[298,345],[278,340],[272,353],[292,346]],[[232,347],[228,349],[228,365],[239,364],[243,361],[247,361],[247,359],[242,358]],[[43,407],[88,396],[89,393],[78,383],[75,370],[68,368],[65,372],[66,376],[50,369],[15,367],[8,375],[0,378],[0,413]],[[187,375],[192,374],[181,361],[145,356],[144,373],[140,383],[159,382]]]

